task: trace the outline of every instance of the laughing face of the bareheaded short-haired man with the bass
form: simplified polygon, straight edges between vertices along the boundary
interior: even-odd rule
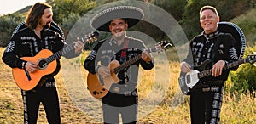
[[[210,34],[212,32],[217,31],[218,22],[218,15],[215,14],[211,9],[205,9],[201,12],[200,23],[201,27],[203,28],[206,34]]]

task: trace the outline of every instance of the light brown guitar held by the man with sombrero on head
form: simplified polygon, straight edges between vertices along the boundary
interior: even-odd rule
[[[166,48],[171,47],[172,44],[170,42],[162,41],[158,42],[154,48],[147,48],[145,49],[148,53],[157,52],[160,50],[165,50]],[[102,99],[109,91],[109,88],[112,86],[113,83],[119,82],[119,77],[117,76],[120,70],[124,70],[128,66],[132,65],[133,63],[137,62],[137,60],[141,59],[142,54],[138,54],[137,56],[133,57],[125,61],[122,65],[119,64],[119,61],[113,60],[108,65],[110,70],[110,76],[103,78],[98,74],[91,74],[89,73],[87,76],[87,88],[90,91],[90,94],[96,99]]]

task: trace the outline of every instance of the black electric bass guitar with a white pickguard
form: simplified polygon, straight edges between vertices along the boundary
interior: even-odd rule
[[[224,70],[228,70],[244,63],[253,64],[254,62],[256,62],[256,55],[248,55],[246,59],[240,59],[236,62],[224,65]],[[208,65],[212,65],[211,60],[206,60],[198,67],[194,67],[195,69],[190,70],[188,73],[180,73],[178,82],[183,94],[190,95],[196,88],[206,86],[205,84],[201,84],[199,80],[206,76],[212,75],[210,70],[205,70]]]

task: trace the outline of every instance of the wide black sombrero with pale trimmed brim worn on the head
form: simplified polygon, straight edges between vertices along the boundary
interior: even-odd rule
[[[141,8],[132,6],[118,6],[108,8],[99,14],[96,14],[91,20],[90,25],[98,31],[109,31],[109,23],[113,19],[125,19],[128,28],[136,25],[143,19],[144,13]]]

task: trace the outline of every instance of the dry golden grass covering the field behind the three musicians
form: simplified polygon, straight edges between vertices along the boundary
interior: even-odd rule
[[[0,49],[2,57],[3,48]],[[61,101],[62,123],[99,123],[100,101],[86,90],[87,71],[81,65],[85,54],[76,59],[62,59],[61,72],[56,76]],[[154,54],[153,70],[139,72],[138,123],[189,123],[189,97],[178,87],[179,63],[168,62],[164,54]],[[20,89],[13,81],[11,69],[0,62],[0,123],[22,123],[23,104]],[[235,96],[235,97],[231,97]],[[256,99],[249,94],[240,98],[224,95],[221,123],[253,123],[256,121]],[[40,106],[38,123],[47,123]]]

